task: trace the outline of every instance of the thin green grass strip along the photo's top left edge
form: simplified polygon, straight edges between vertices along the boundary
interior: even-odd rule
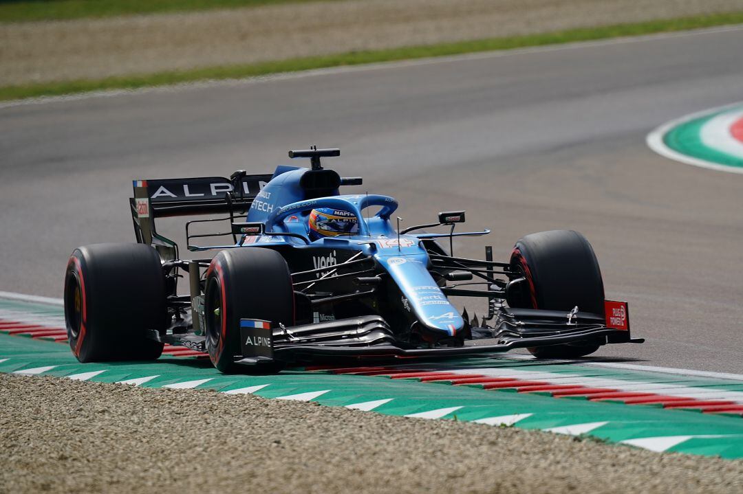
[[[0,0],[0,22],[59,21],[305,1],[317,0]]]

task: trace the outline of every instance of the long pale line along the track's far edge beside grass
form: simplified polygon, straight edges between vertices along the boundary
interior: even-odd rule
[[[302,79],[302,78],[311,77],[311,76],[328,76],[328,75],[337,75],[337,74],[342,74],[342,73],[364,72],[367,70],[383,70],[383,69],[395,69],[395,68],[403,68],[403,67],[418,67],[422,65],[460,62],[464,60],[494,59],[494,58],[499,58],[503,56],[522,55],[522,54],[528,54],[528,53],[550,53],[554,51],[574,50],[576,48],[583,48],[583,47],[624,45],[627,43],[637,43],[637,42],[654,41],[654,40],[661,40],[661,39],[674,39],[674,38],[682,38],[686,36],[700,36],[700,35],[705,35],[705,34],[727,33],[727,32],[739,31],[742,29],[743,27],[739,25],[727,25],[727,26],[719,26],[719,27],[707,27],[703,29],[695,29],[695,30],[687,30],[687,31],[677,31],[675,33],[655,33],[655,34],[647,34],[643,36],[625,36],[625,37],[620,37],[620,38],[599,39],[596,41],[588,41],[588,42],[572,42],[572,43],[562,43],[559,45],[517,48],[513,50],[493,50],[493,51],[479,52],[479,53],[463,53],[461,55],[435,56],[435,57],[429,57],[429,58],[424,58],[424,59],[402,60],[398,62],[379,62],[379,63],[374,63],[374,64],[364,64],[364,65],[328,67],[328,68],[314,69],[314,70],[302,70],[299,72],[276,73],[276,74],[270,74],[267,76],[247,77],[243,79],[221,79],[221,80],[207,80],[207,81],[202,81],[202,82],[185,82],[182,84],[176,84],[176,85],[170,85],[170,86],[158,86],[154,88],[141,88],[141,89],[135,89],[135,90],[126,90],[126,89],[100,90],[100,91],[91,91],[89,93],[82,93],[82,94],[71,94],[68,96],[42,96],[39,98],[27,98],[27,99],[20,99],[20,100],[0,103],[0,109],[11,108],[14,106],[22,106],[22,105],[42,105],[45,103],[55,103],[55,102],[74,102],[74,101],[78,101],[81,99],[109,98],[109,97],[132,95],[132,94],[138,95],[138,94],[146,94],[146,93],[174,93],[174,92],[180,92],[183,90],[191,90],[191,89],[239,87],[242,85],[256,84],[256,83],[261,83],[261,82]]]

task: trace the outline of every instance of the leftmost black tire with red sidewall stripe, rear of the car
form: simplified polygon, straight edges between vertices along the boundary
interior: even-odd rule
[[[99,243],[76,248],[65,271],[65,321],[80,362],[155,360],[163,343],[146,337],[168,323],[165,277],[154,248]]]

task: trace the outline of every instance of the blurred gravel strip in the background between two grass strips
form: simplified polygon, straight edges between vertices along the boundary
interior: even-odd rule
[[[0,86],[741,10],[740,0],[348,0],[0,24]]]

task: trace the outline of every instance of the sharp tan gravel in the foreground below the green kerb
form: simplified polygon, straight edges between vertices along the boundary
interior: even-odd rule
[[[743,461],[213,391],[0,375],[0,493],[740,493]]]

